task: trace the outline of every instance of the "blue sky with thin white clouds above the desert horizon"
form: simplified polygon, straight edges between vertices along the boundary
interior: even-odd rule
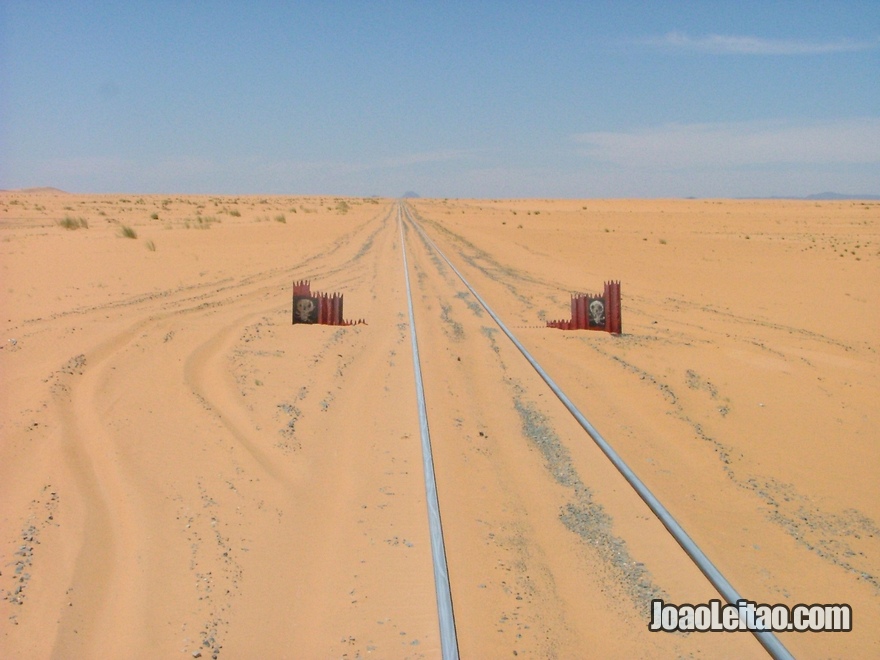
[[[880,2],[0,0],[0,189],[880,194]]]

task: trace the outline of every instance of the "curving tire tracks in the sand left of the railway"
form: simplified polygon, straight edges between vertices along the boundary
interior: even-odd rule
[[[373,228],[374,224],[375,219],[359,226],[344,237],[346,240],[337,240],[330,252],[352,244],[352,238],[366,233],[365,230]],[[364,244],[369,245],[375,231],[363,241]],[[354,247],[358,245],[355,243]],[[363,251],[363,245],[360,251]],[[78,534],[68,533],[65,537],[69,546],[66,546],[64,554],[72,557],[70,586],[65,593],[71,596],[69,606],[61,612],[53,642],[53,655],[126,655],[132,646],[150,648],[147,640],[150,632],[146,630],[143,616],[145,602],[139,596],[147,591],[141,587],[146,586],[144,583],[150,579],[143,568],[143,557],[151,552],[150,538],[138,523],[145,513],[141,509],[142,502],[138,501],[142,498],[138,497],[137,489],[132,489],[131,484],[127,483],[131,475],[126,475],[125,469],[132,466],[123,463],[125,459],[131,463],[131,456],[122,454],[130,451],[120,451],[126,438],[115,428],[119,420],[112,414],[107,416],[108,409],[117,405],[116,399],[131,399],[132,395],[138,395],[138,391],[136,383],[127,391],[111,387],[111,383],[122,383],[118,373],[114,373],[117,367],[122,370],[125,365],[130,370],[130,364],[126,363],[130,362],[129,358],[138,352],[138,345],[145,343],[145,340],[149,341],[162,333],[165,334],[165,342],[173,338],[173,329],[166,332],[169,323],[183,317],[204,318],[223,310],[236,310],[238,316],[194,348],[186,360],[183,380],[187,385],[195,384],[193,393],[197,398],[201,396],[204,404],[207,399],[200,393],[200,390],[205,390],[201,387],[200,378],[207,375],[206,370],[212,358],[222,352],[237,327],[253,315],[264,312],[267,302],[275,303],[279,287],[286,289],[291,275],[301,270],[302,264],[275,268],[247,276],[236,284],[224,285],[214,291],[203,289],[195,296],[191,287],[184,287],[180,291],[164,292],[168,295],[150,295],[130,301],[110,302],[94,309],[74,310],[77,314],[94,317],[134,306],[142,310],[144,316],[96,348],[88,349],[76,365],[79,372],[63,374],[51,386],[55,392],[53,403],[62,427],[67,469],[76,489],[76,497],[70,498],[70,502],[77,515],[69,516],[66,524],[70,528],[80,527]],[[312,267],[311,270],[313,274],[320,274],[321,271],[336,269]],[[177,294],[183,294],[183,297],[175,299]],[[254,311],[240,314],[242,307],[247,306],[253,306]],[[37,321],[39,319],[34,322]],[[181,334],[177,333],[178,342]],[[132,385],[130,382],[128,384]],[[234,411],[235,407],[231,410]],[[247,450],[261,474],[270,475],[275,480],[285,480],[285,475],[250,441],[235,421],[219,415],[216,410],[214,412],[238,445]],[[70,547],[77,545],[77,539],[81,540],[79,547]],[[108,625],[111,622],[112,625]],[[116,644],[110,641],[118,640],[119,636],[104,634],[108,628],[126,630],[125,642]]]

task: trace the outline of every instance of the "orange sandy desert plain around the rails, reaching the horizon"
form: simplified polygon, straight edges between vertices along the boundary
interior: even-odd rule
[[[408,203],[743,595],[852,606],[797,657],[880,655],[880,204]],[[0,193],[0,656],[439,657],[396,208]],[[765,657],[648,632],[717,594],[404,240],[462,657]]]

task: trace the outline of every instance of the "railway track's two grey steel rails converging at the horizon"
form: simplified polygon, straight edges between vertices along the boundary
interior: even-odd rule
[[[697,543],[688,535],[685,529],[673,517],[663,503],[650,491],[650,489],[642,482],[638,475],[627,465],[621,456],[615,451],[611,444],[599,433],[599,431],[590,423],[584,414],[577,408],[572,400],[562,391],[562,389],[553,380],[550,374],[539,364],[532,356],[528,349],[514,336],[507,325],[492,310],[488,303],[480,296],[476,289],[468,282],[465,276],[458,268],[449,260],[442,250],[427,235],[424,229],[413,218],[406,205],[400,203],[398,205],[398,223],[400,224],[401,251],[403,255],[404,277],[406,280],[406,292],[409,308],[410,335],[412,342],[412,354],[415,369],[415,382],[417,399],[419,405],[420,433],[422,439],[422,451],[424,457],[424,472],[428,500],[428,518],[431,528],[431,544],[434,560],[434,576],[437,591],[438,616],[441,629],[441,642],[444,659],[458,658],[458,640],[455,632],[455,615],[453,612],[453,594],[451,593],[449,582],[449,571],[446,562],[446,549],[443,543],[443,531],[440,519],[439,501],[437,496],[436,477],[434,474],[434,462],[432,456],[430,431],[428,424],[428,415],[425,402],[424,385],[422,381],[422,369],[420,365],[418,339],[416,331],[415,314],[413,311],[412,290],[409,279],[409,266],[406,256],[406,237],[404,234],[405,224],[417,232],[424,243],[445,263],[456,277],[464,284],[471,295],[476,299],[482,309],[497,324],[501,332],[516,347],[523,358],[531,365],[534,371],[540,376],[546,386],[559,399],[565,409],[577,421],[584,432],[593,440],[593,442],[601,449],[602,453],[614,465],[620,475],[635,490],[642,501],[654,513],[657,519],[663,524],[669,534],[675,539],[679,546],[684,550],[687,556],[699,568],[706,579],[712,584],[722,598],[730,604],[736,605],[737,602],[745,600],[730,581],[721,573],[721,571],[712,563],[705,552],[697,545]],[[742,615],[749,620],[746,623],[750,628],[754,628],[753,615]],[[793,658],[791,653],[786,649],[782,642],[770,631],[752,630],[755,638],[764,647],[767,653],[776,660],[784,660]]]

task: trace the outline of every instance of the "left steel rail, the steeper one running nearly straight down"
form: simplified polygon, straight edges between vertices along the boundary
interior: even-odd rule
[[[431,533],[431,557],[434,563],[434,590],[437,594],[437,615],[440,620],[440,650],[443,660],[458,660],[458,638],[455,634],[455,615],[452,611],[452,590],[449,587],[446,548],[443,544],[443,527],[440,524],[440,502],[437,498],[437,481],[434,476],[431,434],[428,430],[428,412],[425,406],[425,388],[422,384],[422,367],[419,362],[419,342],[416,338],[416,319],[412,305],[412,289],[409,284],[409,266],[406,261],[406,242],[403,234],[400,206],[397,207],[397,222],[400,226],[400,251],[403,254],[403,274],[406,281],[407,306],[409,307],[409,336],[412,344],[416,399],[419,405],[422,466],[425,471],[425,499],[428,505],[428,527]]]

